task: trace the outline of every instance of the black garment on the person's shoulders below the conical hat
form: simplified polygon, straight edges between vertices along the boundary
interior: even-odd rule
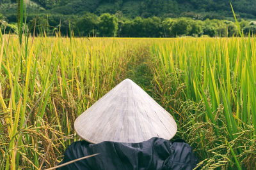
[[[61,164],[86,155],[100,153],[95,157],[79,160],[63,169],[186,169],[196,167],[197,159],[192,148],[183,140],[170,141],[151,138],[141,143],[116,143],[104,141],[90,144],[77,141],[68,146]]]

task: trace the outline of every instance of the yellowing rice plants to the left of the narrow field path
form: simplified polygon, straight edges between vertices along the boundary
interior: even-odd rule
[[[0,42],[1,169],[58,164],[78,139],[75,118],[123,80],[129,60],[148,46],[143,39],[28,38],[28,48],[16,35],[4,34]],[[26,49],[23,82],[19,63]]]

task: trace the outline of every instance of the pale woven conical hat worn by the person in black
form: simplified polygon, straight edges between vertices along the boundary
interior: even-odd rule
[[[77,117],[74,127],[90,143],[139,143],[153,137],[169,140],[177,132],[172,115],[129,79]]]

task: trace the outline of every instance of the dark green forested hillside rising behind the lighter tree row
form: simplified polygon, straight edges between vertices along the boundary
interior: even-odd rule
[[[15,13],[15,0],[0,0],[0,13]],[[33,0],[28,1],[32,13],[58,13],[81,15],[86,12],[122,14],[127,18],[140,17],[232,17],[230,1],[227,0]],[[234,10],[241,18],[256,18],[255,0],[231,0]]]

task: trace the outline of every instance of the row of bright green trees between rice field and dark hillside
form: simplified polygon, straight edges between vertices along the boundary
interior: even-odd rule
[[[3,20],[3,15],[2,20]],[[0,18],[1,20],[1,18]],[[15,16],[9,16],[6,22],[1,24],[1,29],[5,31],[17,32],[15,25]],[[64,16],[64,15],[40,15],[35,17],[28,15],[27,27],[31,33],[36,22],[36,34],[47,34],[54,36],[56,32],[63,35],[69,35],[70,31],[74,32],[77,37],[145,37],[145,38],[172,38],[177,36],[220,36],[230,37],[237,36],[237,25],[229,20],[206,19],[196,20],[195,18],[160,18],[135,17],[134,19],[124,18],[119,13],[111,15],[103,13],[97,16],[93,13],[86,13],[81,17]],[[0,22],[3,23],[3,22]],[[250,31],[256,31],[256,22],[240,20],[239,27],[244,34]]]

